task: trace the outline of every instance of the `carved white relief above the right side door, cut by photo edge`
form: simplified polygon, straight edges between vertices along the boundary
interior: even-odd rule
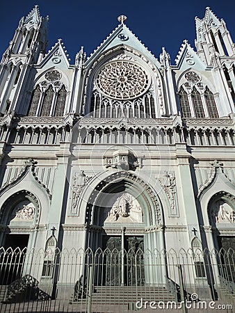
[[[235,223],[235,211],[227,202],[218,200],[212,208],[211,218],[214,225]]]

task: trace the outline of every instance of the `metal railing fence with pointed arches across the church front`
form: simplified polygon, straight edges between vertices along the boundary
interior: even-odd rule
[[[1,248],[0,312],[233,312],[234,262],[232,249]]]

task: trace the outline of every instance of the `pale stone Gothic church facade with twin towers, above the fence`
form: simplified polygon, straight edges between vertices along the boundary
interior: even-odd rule
[[[0,67],[0,245],[234,247],[235,47],[210,8],[174,64],[124,16],[86,57],[38,6]]]

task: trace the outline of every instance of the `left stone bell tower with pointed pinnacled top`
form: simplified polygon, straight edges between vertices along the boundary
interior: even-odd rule
[[[47,48],[48,17],[41,17],[38,6],[22,17],[1,60],[0,113],[15,111],[26,88],[29,67],[38,62]],[[19,112],[20,113],[20,112]]]

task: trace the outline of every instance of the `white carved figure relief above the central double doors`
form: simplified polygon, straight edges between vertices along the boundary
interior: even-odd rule
[[[143,223],[143,209],[133,195],[123,193],[113,203],[104,222]]]

